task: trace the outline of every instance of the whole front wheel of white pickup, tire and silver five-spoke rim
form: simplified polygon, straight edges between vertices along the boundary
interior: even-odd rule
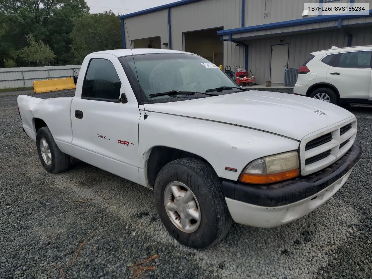
[[[230,229],[232,218],[218,176],[200,160],[181,158],[164,166],[154,194],[161,221],[185,246],[208,248]]]

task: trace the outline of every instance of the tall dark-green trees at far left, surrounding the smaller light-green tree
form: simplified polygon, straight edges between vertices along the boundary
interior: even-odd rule
[[[70,64],[72,18],[89,12],[85,0],[0,0],[0,67],[4,60],[11,59],[11,51],[28,46],[25,39],[29,34],[36,41],[49,44],[57,55],[55,63]],[[27,65],[17,57],[17,66]]]

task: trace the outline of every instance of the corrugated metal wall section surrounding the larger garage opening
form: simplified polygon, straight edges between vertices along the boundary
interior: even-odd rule
[[[197,20],[196,20],[197,19]],[[241,0],[204,0],[171,9],[172,48],[183,50],[182,33],[241,26]],[[224,67],[244,64],[244,47],[224,42]]]

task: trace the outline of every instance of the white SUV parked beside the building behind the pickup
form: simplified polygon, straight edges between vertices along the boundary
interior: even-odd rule
[[[372,104],[372,46],[312,52],[299,67],[294,93],[336,105]]]

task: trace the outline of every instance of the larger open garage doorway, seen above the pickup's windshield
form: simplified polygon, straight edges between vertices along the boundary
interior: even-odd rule
[[[204,29],[183,33],[183,49],[208,59],[215,65],[224,64],[224,43],[217,36],[220,28]]]

